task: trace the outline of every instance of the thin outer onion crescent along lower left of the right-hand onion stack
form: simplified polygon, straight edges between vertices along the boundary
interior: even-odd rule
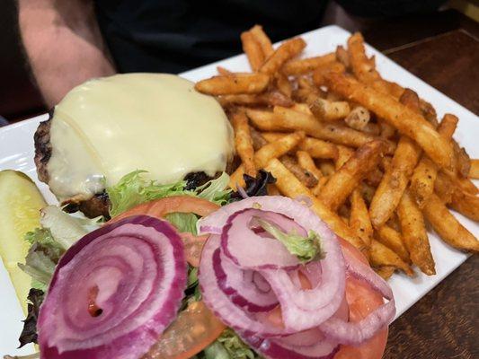
[[[219,236],[211,235],[201,253],[200,260],[200,290],[203,301],[228,327],[246,334],[262,337],[285,336],[292,334],[284,328],[274,327],[268,322],[257,320],[253,313],[244,311],[244,308],[235,305],[218,285],[214,262],[220,260]]]

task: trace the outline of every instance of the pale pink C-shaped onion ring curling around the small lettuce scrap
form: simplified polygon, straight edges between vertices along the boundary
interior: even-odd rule
[[[236,212],[226,221],[221,232],[221,250],[225,256],[244,269],[297,267],[297,257],[289,253],[280,241],[252,230],[255,217],[276,224],[283,232],[296,231],[306,236],[305,229],[286,215],[248,208]]]

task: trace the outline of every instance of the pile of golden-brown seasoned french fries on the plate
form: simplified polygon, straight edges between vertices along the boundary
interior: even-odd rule
[[[427,223],[448,245],[479,241],[448,208],[479,221],[479,160],[452,138],[458,118],[383,79],[356,33],[334,53],[300,58],[303,39],[279,48],[256,25],[241,35],[251,73],[196,83],[217,96],[235,128],[244,174],[270,171],[270,194],[307,199],[324,222],[361,250],[377,272],[434,275]]]

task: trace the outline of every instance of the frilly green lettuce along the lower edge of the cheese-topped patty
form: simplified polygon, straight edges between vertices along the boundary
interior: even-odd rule
[[[185,189],[186,181],[180,180],[172,184],[160,184],[156,180],[145,180],[146,171],[133,171],[123,176],[120,181],[106,188],[110,198],[110,215],[114,217],[128,211],[129,208],[154,199],[171,196],[194,196],[208,199],[218,205],[229,201],[230,189],[226,189],[229,176],[224,172],[216,180],[210,180],[195,189]]]

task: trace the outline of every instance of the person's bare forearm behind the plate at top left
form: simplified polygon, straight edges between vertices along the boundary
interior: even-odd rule
[[[18,0],[31,70],[48,106],[85,80],[115,73],[91,0]]]

